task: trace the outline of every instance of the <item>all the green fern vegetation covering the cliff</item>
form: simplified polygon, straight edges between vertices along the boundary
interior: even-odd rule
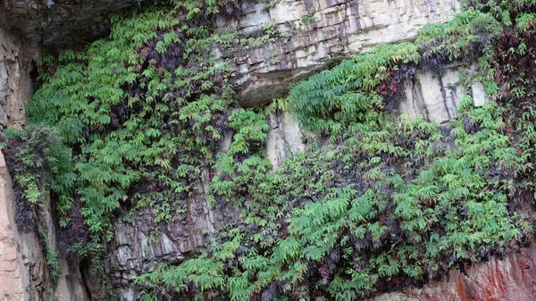
[[[36,125],[12,133],[6,159],[25,210],[43,193],[36,175],[50,175],[63,230],[83,238],[66,255],[104,260],[114,217],[150,206],[169,222],[201,193],[239,208],[242,222],[214,233],[202,255],[139,275],[142,299],[354,300],[510,252],[532,234],[533,1],[470,1],[415,42],[378,46],[250,109],[233,100],[229,61],[209,49],[285,37],[270,26],[254,39],[216,29],[224,5],[116,15],[110,38],[42,57],[28,105]],[[417,69],[453,61],[478,63],[462,84],[481,81],[497,103],[475,108],[466,96],[444,125],[385,109]],[[266,116],[281,107],[328,142],[270,172]]]

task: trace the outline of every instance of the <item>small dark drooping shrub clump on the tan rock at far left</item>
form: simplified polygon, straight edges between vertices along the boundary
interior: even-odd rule
[[[16,222],[19,230],[38,235],[53,286],[62,273],[56,252],[37,216],[44,210],[45,196],[54,191],[58,213],[71,207],[71,190],[75,181],[72,172],[71,148],[65,146],[57,131],[29,125],[24,129],[4,130],[7,167],[13,175],[16,197]],[[63,219],[60,223],[65,224]]]

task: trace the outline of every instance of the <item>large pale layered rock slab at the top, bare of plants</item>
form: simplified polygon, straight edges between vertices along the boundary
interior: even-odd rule
[[[457,0],[281,0],[246,4],[245,16],[219,24],[250,32],[272,25],[288,37],[236,58],[240,104],[251,106],[286,94],[291,82],[341,57],[415,39],[424,25],[450,21],[459,10]]]

